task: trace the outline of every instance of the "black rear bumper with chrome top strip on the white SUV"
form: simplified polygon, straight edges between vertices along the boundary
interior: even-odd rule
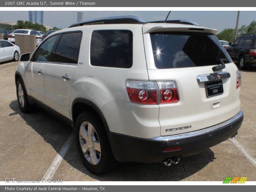
[[[116,160],[121,162],[161,162],[173,156],[190,156],[221,143],[234,135],[244,119],[242,111],[220,124],[172,136],[141,139],[108,132],[110,146]],[[180,150],[163,152],[165,148]]]

